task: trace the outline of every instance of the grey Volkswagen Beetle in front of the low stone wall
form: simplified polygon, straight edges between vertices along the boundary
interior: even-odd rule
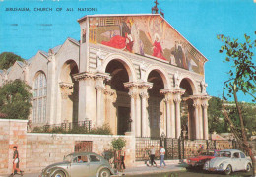
[[[44,168],[39,177],[109,177],[115,174],[107,160],[92,152],[71,153],[62,162]]]

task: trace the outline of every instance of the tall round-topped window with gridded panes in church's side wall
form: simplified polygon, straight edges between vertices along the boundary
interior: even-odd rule
[[[46,121],[47,81],[42,72],[38,72],[33,83],[33,122]]]

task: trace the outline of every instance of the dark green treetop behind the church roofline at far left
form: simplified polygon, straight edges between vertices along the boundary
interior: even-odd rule
[[[7,70],[13,66],[16,61],[24,61],[24,59],[12,52],[3,52],[0,54],[0,69]]]

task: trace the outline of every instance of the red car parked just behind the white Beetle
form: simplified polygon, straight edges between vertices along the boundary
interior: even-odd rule
[[[216,157],[217,150],[203,150],[198,156],[187,159],[187,169],[200,168],[203,169],[203,166],[206,161],[211,160]]]

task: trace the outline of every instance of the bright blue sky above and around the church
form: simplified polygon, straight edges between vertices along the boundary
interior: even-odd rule
[[[0,53],[14,52],[29,59],[38,50],[48,51],[68,37],[79,40],[78,19],[93,14],[150,14],[154,0],[0,0]],[[243,40],[256,30],[253,0],[159,0],[165,20],[209,61],[205,64],[207,92],[222,97],[229,64],[223,63],[222,43],[217,34]],[[30,11],[7,11],[29,8]],[[52,11],[36,11],[52,8]],[[67,11],[67,8],[73,11]],[[78,11],[94,8],[95,11]],[[254,50],[255,51],[255,50]],[[256,52],[255,52],[256,53]],[[251,102],[238,94],[239,101]]]

